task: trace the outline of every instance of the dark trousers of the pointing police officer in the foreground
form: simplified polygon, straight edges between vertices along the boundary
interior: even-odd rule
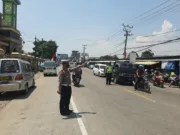
[[[71,86],[62,86],[60,99],[60,112],[68,112],[71,99]]]

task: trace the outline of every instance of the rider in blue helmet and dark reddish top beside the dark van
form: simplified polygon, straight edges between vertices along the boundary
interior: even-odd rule
[[[137,89],[137,85],[138,83],[143,79],[144,76],[144,66],[143,65],[139,65],[138,69],[136,71],[136,83],[135,83],[135,90]]]

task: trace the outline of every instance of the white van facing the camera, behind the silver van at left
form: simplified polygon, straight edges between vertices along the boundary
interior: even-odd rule
[[[43,73],[44,73],[44,76],[47,76],[47,75],[57,76],[56,63],[54,61],[44,62]]]

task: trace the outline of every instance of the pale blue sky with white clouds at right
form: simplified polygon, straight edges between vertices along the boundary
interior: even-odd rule
[[[166,1],[21,0],[22,4],[18,6],[17,28],[21,31],[25,41],[23,49],[27,52],[32,51],[32,41],[36,35],[38,39],[55,40],[59,46],[57,53],[71,54],[72,50],[82,52],[82,45],[87,45],[86,52],[90,56],[117,54],[122,57],[124,44],[121,43],[125,39],[122,32],[123,23],[133,26],[132,35],[128,37],[127,48],[180,37],[178,31],[154,37],[143,37],[180,28],[178,17],[180,1],[169,0],[149,14],[142,15]],[[158,11],[168,5],[171,5],[173,10],[168,12],[166,9],[165,13]],[[0,10],[2,11],[2,2]],[[180,54],[179,46],[180,42],[177,42],[151,49],[155,55],[178,55]],[[133,50],[127,50],[127,53],[130,51]]]

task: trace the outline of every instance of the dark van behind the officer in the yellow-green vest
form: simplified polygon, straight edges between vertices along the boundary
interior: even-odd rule
[[[131,83],[135,82],[136,65],[129,61],[116,61],[113,66],[112,80],[114,83]]]

